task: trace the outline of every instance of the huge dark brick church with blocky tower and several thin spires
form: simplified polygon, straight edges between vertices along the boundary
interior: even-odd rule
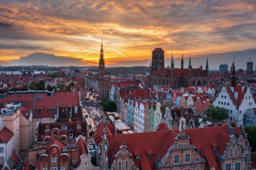
[[[182,54],[181,69],[174,68],[173,58],[170,67],[164,68],[164,50],[162,48],[155,48],[152,51],[150,69],[150,87],[154,87],[154,85],[169,85],[172,88],[206,86],[209,80],[208,59],[206,60],[205,69],[202,66],[192,68],[191,57],[189,56],[189,67],[185,69]]]

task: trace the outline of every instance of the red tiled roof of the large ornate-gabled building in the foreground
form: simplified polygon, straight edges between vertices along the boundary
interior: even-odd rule
[[[103,126],[102,126],[103,127]],[[236,136],[243,133],[241,127],[234,127]],[[102,131],[99,128],[97,131]],[[98,133],[96,131],[97,137]],[[185,129],[185,133],[189,136],[191,144],[197,149],[201,149],[200,155],[205,155],[205,161],[210,167],[220,169],[216,152],[213,147],[218,147],[218,153],[223,154],[226,143],[229,141],[227,124],[223,126],[212,126],[206,128],[189,128]],[[125,140],[127,150],[133,154],[132,159],[135,166],[139,169],[154,169],[154,161],[159,161],[168,152],[168,149],[179,134],[179,130],[169,130],[164,125],[160,125],[159,130],[155,132],[142,132],[133,134],[107,134],[108,139],[108,158],[110,164],[115,161],[115,155],[119,151],[121,142]],[[95,140],[95,139],[94,139]],[[95,140],[96,142],[102,142]],[[148,159],[148,154],[153,153],[153,159]],[[136,161],[136,155],[140,156],[140,161]],[[206,166],[205,166],[206,167]]]

